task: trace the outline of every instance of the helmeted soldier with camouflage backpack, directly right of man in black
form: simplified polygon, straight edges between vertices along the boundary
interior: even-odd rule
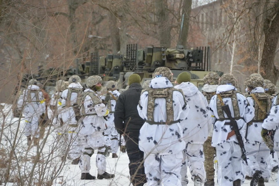
[[[187,119],[189,106],[183,92],[173,87],[169,68],[158,67],[152,78],[137,107],[146,120],[140,129],[139,147],[144,152],[147,185],[181,185],[186,143],[180,121]]]

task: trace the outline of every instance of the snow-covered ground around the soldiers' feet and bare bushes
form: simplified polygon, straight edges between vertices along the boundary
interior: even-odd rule
[[[5,108],[10,108],[10,106],[5,106]],[[45,145],[42,148],[42,153],[40,153],[40,160],[38,163],[34,165],[34,161],[36,161],[37,151],[41,149],[37,149],[36,147],[32,147],[31,149],[27,149],[27,140],[23,131],[23,122],[19,121],[18,118],[12,118],[11,113],[6,109],[6,119],[3,130],[3,137],[1,138],[1,146],[0,149],[6,149],[7,153],[10,152],[11,146],[13,142],[16,144],[15,154],[16,158],[12,160],[12,168],[14,171],[10,172],[11,178],[19,176],[22,179],[25,179],[25,184],[28,185],[27,182],[30,181],[30,174],[33,174],[33,178],[30,182],[30,185],[40,185],[40,179],[49,180],[51,177],[55,177],[53,182],[50,185],[55,186],[85,186],[85,185],[95,185],[95,186],[107,186],[107,185],[131,185],[129,181],[129,169],[128,163],[129,159],[127,153],[120,153],[118,151],[119,158],[107,158],[107,172],[115,174],[115,178],[110,180],[80,180],[81,171],[78,165],[72,165],[71,160],[66,160],[65,164],[61,163],[60,158],[56,155],[56,134],[52,130],[52,128],[47,128],[45,132],[45,136],[47,135],[47,131],[51,132],[47,138],[45,138]],[[3,117],[0,119],[0,124],[3,122]],[[16,131],[18,130],[17,137]],[[44,140],[40,140],[41,147],[44,144]],[[9,156],[6,157],[6,159]],[[0,154],[1,158],[1,154]],[[2,156],[3,158],[3,156]],[[96,153],[91,157],[91,170],[90,174],[97,177],[97,169],[96,169]],[[1,161],[1,159],[0,159]],[[1,163],[1,162],[0,162]],[[61,168],[60,168],[61,165]],[[64,165],[64,166],[63,166]],[[33,170],[33,172],[32,172]],[[55,176],[57,173],[58,176]],[[0,166],[0,176],[1,176],[1,166]],[[216,174],[215,174],[216,176]],[[188,171],[188,178],[190,178],[190,174]],[[272,173],[271,178],[268,183],[265,183],[266,186],[275,186],[277,185],[277,173]],[[45,181],[43,182],[45,184]],[[217,180],[215,177],[215,185],[217,185]],[[44,185],[42,184],[42,185]],[[8,183],[8,186],[19,185],[17,183]],[[194,183],[190,180],[188,186],[193,186]],[[244,185],[250,185],[250,181],[246,180]]]

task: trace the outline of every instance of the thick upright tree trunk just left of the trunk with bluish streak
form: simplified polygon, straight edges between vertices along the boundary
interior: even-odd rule
[[[169,48],[171,46],[171,26],[169,24],[169,15],[166,11],[167,8],[167,0],[155,0],[160,45],[161,47]]]

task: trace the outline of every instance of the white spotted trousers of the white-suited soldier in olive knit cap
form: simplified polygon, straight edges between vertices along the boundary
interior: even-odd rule
[[[181,184],[186,186],[187,179],[187,165],[189,165],[191,179],[194,180],[195,176],[201,178],[201,182],[205,182],[206,172],[204,169],[204,154],[203,144],[187,144],[183,150],[183,162],[181,165]]]

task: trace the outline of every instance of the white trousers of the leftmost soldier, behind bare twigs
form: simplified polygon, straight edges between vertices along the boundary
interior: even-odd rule
[[[24,119],[24,133],[26,136],[39,138],[39,117],[33,116]]]

